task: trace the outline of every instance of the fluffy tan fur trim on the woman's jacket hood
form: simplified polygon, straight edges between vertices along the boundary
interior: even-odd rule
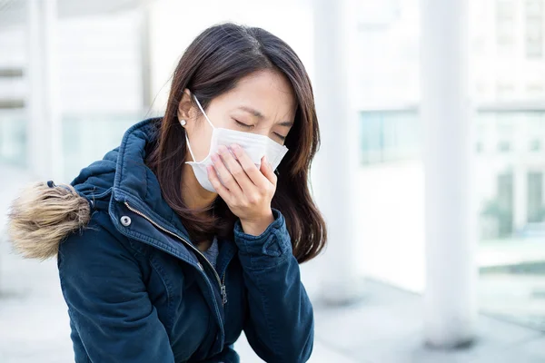
[[[56,256],[66,236],[81,231],[91,219],[87,199],[68,184],[36,182],[21,191],[8,212],[8,240],[27,259]]]

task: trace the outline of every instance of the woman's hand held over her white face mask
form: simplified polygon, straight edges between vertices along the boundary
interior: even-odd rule
[[[257,169],[250,156],[236,144],[229,149],[222,145],[218,152],[212,155],[215,170],[213,166],[207,168],[208,179],[241,220],[244,233],[260,235],[274,221],[271,201],[277,179],[271,164],[263,156]]]

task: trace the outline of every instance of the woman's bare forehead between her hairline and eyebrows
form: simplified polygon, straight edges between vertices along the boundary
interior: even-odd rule
[[[280,72],[271,70],[243,77],[233,90],[216,100],[218,105],[233,110],[241,106],[252,107],[272,121],[292,120],[297,106],[292,84]]]

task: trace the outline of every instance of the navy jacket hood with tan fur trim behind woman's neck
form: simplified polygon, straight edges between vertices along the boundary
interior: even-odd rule
[[[120,147],[84,168],[70,184],[49,181],[26,186],[8,211],[7,235],[15,251],[29,259],[54,257],[61,241],[83,231],[94,211],[108,211],[115,188],[144,204],[155,204],[151,208],[170,210],[153,172],[144,164],[158,120],[136,123],[124,133]]]

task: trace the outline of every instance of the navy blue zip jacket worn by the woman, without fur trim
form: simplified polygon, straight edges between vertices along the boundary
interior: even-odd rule
[[[260,236],[238,221],[214,269],[144,164],[157,122],[135,124],[72,182],[93,213],[58,249],[75,361],[238,362],[243,330],[266,362],[306,361],[312,305],[281,212]]]

